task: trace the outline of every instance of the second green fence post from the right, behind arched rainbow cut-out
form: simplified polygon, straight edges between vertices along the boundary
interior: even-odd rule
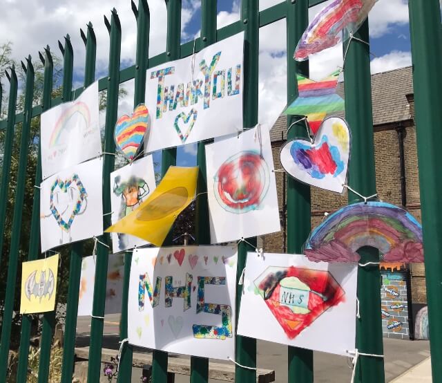
[[[368,21],[354,34],[367,44],[352,39],[344,44],[345,57],[345,118],[352,130],[352,156],[347,183],[363,196],[376,193],[374,169],[372,91],[369,60]],[[353,192],[349,203],[360,202]],[[379,252],[374,247],[362,247],[358,252],[361,263],[378,262]],[[356,348],[361,353],[383,355],[381,310],[381,275],[378,265],[358,267],[358,299],[360,319],[356,319]],[[356,366],[355,382],[383,383],[383,358],[360,356]]]

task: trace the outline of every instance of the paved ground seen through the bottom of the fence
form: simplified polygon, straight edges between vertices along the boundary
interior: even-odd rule
[[[103,347],[115,349],[115,354],[118,353],[118,323],[119,315],[106,315],[104,321],[105,337]],[[89,317],[78,319],[77,346],[89,345],[89,324]],[[140,349],[137,351],[140,352]],[[384,355],[386,382],[431,382],[431,377],[430,380],[428,380],[430,364],[428,360],[425,361],[425,359],[428,359],[430,356],[429,342],[384,338]],[[274,369],[276,382],[287,382],[287,347],[281,346],[280,344],[258,341],[258,366],[260,368]],[[351,363],[346,357],[326,353],[314,353],[315,383],[349,382],[352,375],[350,366]],[[413,366],[416,367],[414,367],[412,371],[409,371]],[[134,368],[132,382],[140,382],[140,375],[141,371]],[[189,377],[176,375],[175,382],[189,382]],[[211,380],[209,382],[218,383],[219,381]]]

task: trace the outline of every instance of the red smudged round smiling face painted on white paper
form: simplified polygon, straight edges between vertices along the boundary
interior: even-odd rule
[[[213,190],[227,212],[260,208],[270,185],[269,167],[259,151],[242,151],[227,159],[215,174]]]

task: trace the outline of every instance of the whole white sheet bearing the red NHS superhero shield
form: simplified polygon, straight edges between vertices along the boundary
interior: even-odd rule
[[[275,274],[288,270],[287,276]],[[272,274],[273,280],[265,283],[265,277]],[[347,355],[347,350],[354,350],[356,339],[357,274],[352,263],[316,263],[297,254],[258,256],[249,252],[238,335]],[[260,292],[259,286],[264,284],[267,290]],[[267,300],[261,295],[263,291],[267,291]],[[331,307],[323,306],[323,302]]]

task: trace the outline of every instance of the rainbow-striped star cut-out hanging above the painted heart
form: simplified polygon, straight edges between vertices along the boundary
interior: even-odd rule
[[[298,97],[287,106],[283,114],[305,115],[311,131],[316,134],[328,113],[343,111],[345,102],[336,93],[340,71],[316,82],[298,74]]]

